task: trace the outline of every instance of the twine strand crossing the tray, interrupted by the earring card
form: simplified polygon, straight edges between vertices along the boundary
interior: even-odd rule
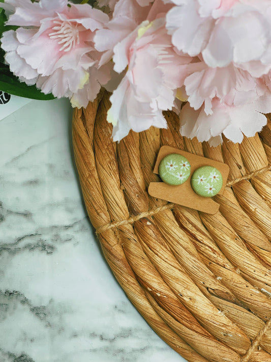
[[[237,182],[240,182],[240,181],[243,181],[243,180],[250,180],[252,179],[253,177],[257,176],[257,175],[260,175],[266,171],[271,171],[271,165],[268,165],[260,170],[256,170],[250,174],[247,174],[245,176],[242,176],[242,177],[238,177],[234,180],[230,180],[226,183],[226,186],[227,187],[230,187],[234,184],[236,184]],[[101,234],[103,233],[104,231],[107,231],[107,230],[111,230],[111,229],[117,229],[119,228],[120,226],[123,226],[123,225],[133,225],[136,221],[139,221],[140,219],[144,218],[144,217],[150,217],[150,216],[153,216],[155,214],[157,214],[158,212],[161,212],[161,211],[164,211],[164,210],[168,210],[168,209],[173,209],[175,206],[174,203],[168,203],[166,205],[163,205],[163,206],[159,206],[155,209],[152,209],[152,210],[149,210],[149,211],[144,211],[144,212],[141,212],[140,214],[138,215],[135,215],[135,216],[131,216],[129,217],[128,219],[125,219],[125,220],[119,220],[119,221],[113,221],[113,222],[108,222],[108,224],[105,224],[105,225],[102,225],[100,226],[99,228],[96,229],[96,234]]]

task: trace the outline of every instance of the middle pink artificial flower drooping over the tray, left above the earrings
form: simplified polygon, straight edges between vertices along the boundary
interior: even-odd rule
[[[121,73],[127,69],[110,97],[107,120],[114,126],[114,141],[130,129],[140,132],[150,126],[167,127],[162,111],[172,108],[191,60],[174,51],[164,18],[144,21],[114,47],[114,70]]]

